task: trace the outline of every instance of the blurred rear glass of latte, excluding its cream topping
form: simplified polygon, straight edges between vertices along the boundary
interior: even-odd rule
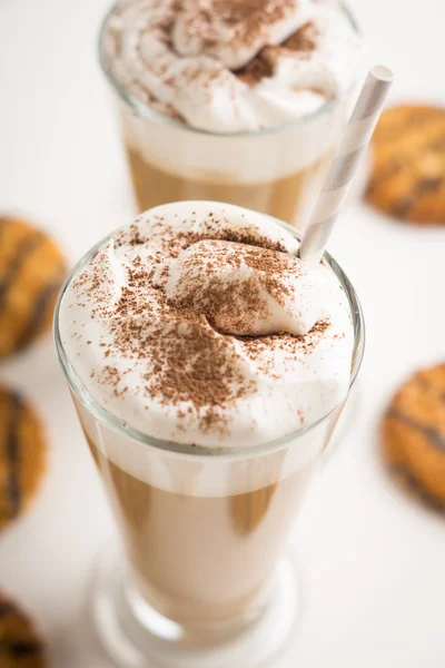
[[[227,202],[303,230],[343,135],[352,90],[277,128],[235,135],[197,130],[158,114],[113,77],[103,48],[112,11],[102,24],[99,56],[118,102],[139,210],[184,199]]]

